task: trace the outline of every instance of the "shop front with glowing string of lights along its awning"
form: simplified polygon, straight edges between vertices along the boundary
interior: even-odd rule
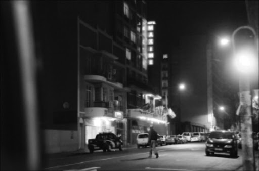
[[[137,135],[140,133],[147,133],[147,127],[153,125],[156,132],[160,135],[166,135],[167,132],[167,116],[157,115],[154,113],[143,112],[136,109],[128,109],[128,116],[130,129],[130,143],[136,144]]]

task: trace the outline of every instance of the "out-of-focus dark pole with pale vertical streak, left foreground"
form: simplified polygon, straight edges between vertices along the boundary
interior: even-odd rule
[[[40,170],[37,66],[29,1],[1,1],[1,170]]]

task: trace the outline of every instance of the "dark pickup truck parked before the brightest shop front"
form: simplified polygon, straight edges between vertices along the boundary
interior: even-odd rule
[[[88,140],[88,149],[90,153],[93,153],[95,150],[103,150],[103,152],[106,152],[116,148],[122,151],[122,147],[122,140],[110,132],[99,133],[96,135],[95,139]]]

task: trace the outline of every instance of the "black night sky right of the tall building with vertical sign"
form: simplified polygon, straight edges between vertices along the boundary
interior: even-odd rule
[[[247,25],[245,1],[147,1],[147,6],[148,21],[156,21],[155,44],[162,54],[171,53],[180,36],[231,34]]]

